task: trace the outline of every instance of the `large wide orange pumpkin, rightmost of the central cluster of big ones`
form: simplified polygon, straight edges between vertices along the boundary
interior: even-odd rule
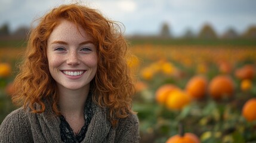
[[[209,95],[214,99],[230,98],[235,90],[234,82],[230,76],[215,76],[208,86]]]

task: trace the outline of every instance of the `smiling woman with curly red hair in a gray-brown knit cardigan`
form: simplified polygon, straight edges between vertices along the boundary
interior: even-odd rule
[[[0,126],[0,142],[138,142],[134,84],[120,27],[96,10],[54,8],[30,33],[14,80],[23,106]]]

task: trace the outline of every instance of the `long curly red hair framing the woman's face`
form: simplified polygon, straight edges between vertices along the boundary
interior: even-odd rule
[[[29,107],[33,113],[42,113],[45,111],[43,100],[53,100],[52,108],[60,114],[57,86],[48,68],[47,40],[61,19],[82,26],[94,39],[98,67],[90,86],[94,92],[92,99],[101,107],[109,108],[110,121],[115,125],[116,119],[132,113],[135,90],[134,78],[127,64],[127,42],[115,21],[107,20],[97,10],[84,5],[61,5],[39,19],[38,26],[30,33],[20,72],[14,80],[16,94],[13,101]],[[36,109],[35,104],[42,108]]]

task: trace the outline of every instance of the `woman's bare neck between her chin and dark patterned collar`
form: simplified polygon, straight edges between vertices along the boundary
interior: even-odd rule
[[[90,86],[78,90],[58,88],[59,107],[63,116],[84,116],[84,105]]]

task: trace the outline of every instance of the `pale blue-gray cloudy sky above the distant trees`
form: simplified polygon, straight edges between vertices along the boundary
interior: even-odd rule
[[[51,8],[71,0],[0,0],[0,25],[10,24],[12,31],[30,26]],[[77,1],[76,1],[77,2]],[[82,1],[100,10],[111,20],[121,21],[125,33],[158,34],[162,23],[168,23],[174,36],[191,29],[198,33],[202,25],[210,23],[220,35],[232,27],[244,32],[256,25],[254,0],[90,0]]]

